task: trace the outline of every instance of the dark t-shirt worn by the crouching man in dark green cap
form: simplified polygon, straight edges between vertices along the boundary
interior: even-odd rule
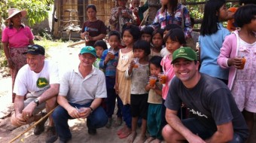
[[[242,113],[236,106],[227,85],[209,75],[201,74],[200,81],[191,89],[177,78],[172,79],[169,93],[166,97],[166,108],[178,111],[181,102],[186,105],[188,111],[207,129],[217,131],[216,125],[232,121],[233,130],[246,138],[248,128]]]

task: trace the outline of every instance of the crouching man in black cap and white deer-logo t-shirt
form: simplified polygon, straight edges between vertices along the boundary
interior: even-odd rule
[[[56,107],[56,95],[59,93],[59,71],[56,65],[45,60],[44,47],[38,44],[29,45],[26,54],[27,64],[20,68],[14,84],[14,114],[11,123],[14,126],[22,126],[33,121],[40,120],[46,113],[41,112],[44,108],[49,112]],[[24,96],[26,100],[24,101]],[[35,126],[34,134],[44,132],[42,120]],[[46,142],[56,141],[57,135],[52,117],[49,117]]]

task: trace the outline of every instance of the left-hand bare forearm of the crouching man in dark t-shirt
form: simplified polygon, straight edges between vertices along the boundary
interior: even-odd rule
[[[177,116],[178,111],[170,110],[166,108],[166,121],[172,129],[175,129],[180,135],[184,137],[184,140],[188,142],[205,142],[198,135],[195,135],[186,126],[181,123],[181,120]]]

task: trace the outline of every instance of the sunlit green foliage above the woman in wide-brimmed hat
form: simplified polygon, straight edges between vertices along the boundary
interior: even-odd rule
[[[28,12],[26,18],[29,26],[33,26],[35,23],[40,23],[46,17],[48,17],[50,4],[53,4],[53,2],[54,0],[8,0],[8,3],[1,1],[0,14],[1,17],[6,19],[8,17],[8,8],[26,10]]]

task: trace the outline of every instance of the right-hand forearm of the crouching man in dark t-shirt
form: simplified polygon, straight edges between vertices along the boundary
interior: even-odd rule
[[[206,142],[229,142],[233,139],[232,122],[224,123],[217,126],[217,131]]]

